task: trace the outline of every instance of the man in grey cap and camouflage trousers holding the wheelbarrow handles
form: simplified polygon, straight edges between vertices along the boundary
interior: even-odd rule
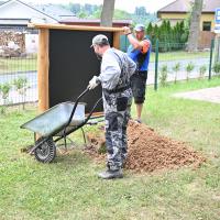
[[[134,74],[136,65],[125,53],[111,48],[106,35],[96,35],[91,47],[102,61],[100,75],[92,77],[88,88],[94,89],[101,84],[106,120],[107,170],[98,176],[103,179],[122,178],[132,101],[130,77]]]

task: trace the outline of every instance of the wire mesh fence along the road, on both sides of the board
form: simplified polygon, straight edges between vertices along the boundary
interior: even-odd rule
[[[155,56],[153,47],[148,65],[148,85],[155,81]],[[0,106],[37,102],[36,58],[36,54],[0,56]],[[209,75],[209,65],[210,50],[188,53],[185,44],[158,44],[158,82],[163,75],[166,75],[167,81],[205,78]]]

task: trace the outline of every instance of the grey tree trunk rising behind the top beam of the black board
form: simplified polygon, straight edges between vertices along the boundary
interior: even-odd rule
[[[112,26],[114,1],[116,0],[103,0],[100,26]]]

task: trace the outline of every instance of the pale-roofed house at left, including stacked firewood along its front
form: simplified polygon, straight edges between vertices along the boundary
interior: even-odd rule
[[[73,12],[56,4],[31,4],[20,0],[0,1],[0,47],[15,45],[21,53],[36,53],[37,30],[28,23],[59,23],[76,18]]]

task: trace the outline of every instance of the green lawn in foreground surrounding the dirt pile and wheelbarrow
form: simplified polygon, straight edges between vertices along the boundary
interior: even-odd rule
[[[220,85],[220,79],[148,88],[144,121],[163,135],[187,142],[207,163],[198,169],[153,174],[125,170],[119,180],[100,180],[105,168],[78,146],[52,164],[37,163],[21,148],[32,133],[19,129],[34,110],[0,116],[0,219],[220,219],[220,105],[173,98],[180,91]],[[88,128],[86,129],[89,130]],[[75,135],[82,143],[80,132]]]

